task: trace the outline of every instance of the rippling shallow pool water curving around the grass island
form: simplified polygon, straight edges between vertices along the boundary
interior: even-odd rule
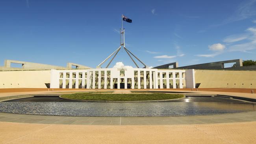
[[[0,112],[56,116],[188,116],[255,110],[255,103],[218,97],[186,97],[169,102],[77,102],[42,96],[0,102]]]

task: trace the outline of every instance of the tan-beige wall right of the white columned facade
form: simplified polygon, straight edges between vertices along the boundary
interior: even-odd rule
[[[199,88],[256,89],[256,71],[195,70],[195,83],[201,83]]]

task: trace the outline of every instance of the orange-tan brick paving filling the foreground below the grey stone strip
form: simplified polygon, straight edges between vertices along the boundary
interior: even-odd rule
[[[256,122],[88,126],[0,122],[1,144],[255,144]]]

